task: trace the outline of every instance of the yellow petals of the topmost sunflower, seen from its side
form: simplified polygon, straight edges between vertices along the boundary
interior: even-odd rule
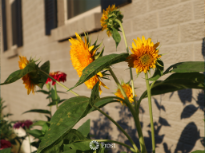
[[[106,22],[106,20],[108,19],[109,13],[112,12],[112,11],[114,11],[114,10],[116,10],[116,9],[117,9],[117,7],[115,7],[115,5],[112,5],[111,7],[110,7],[110,5],[109,5],[106,10],[103,10],[103,14],[102,14],[102,17],[101,17],[101,20],[100,20],[101,26],[102,26],[102,30],[105,30],[105,29],[107,30],[107,35],[108,35],[108,37],[111,36],[111,32],[110,32],[110,30],[107,28],[107,22]]]

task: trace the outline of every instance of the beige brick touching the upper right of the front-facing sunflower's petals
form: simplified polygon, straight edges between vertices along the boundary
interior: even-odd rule
[[[152,39],[154,43],[160,42],[161,45],[176,44],[179,39],[179,27],[173,26],[168,28],[163,28],[160,30],[154,30],[148,32],[148,36]]]

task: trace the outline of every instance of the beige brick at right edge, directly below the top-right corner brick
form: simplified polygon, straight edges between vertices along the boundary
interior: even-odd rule
[[[181,42],[190,42],[202,40],[203,33],[203,21],[191,22],[180,25]]]

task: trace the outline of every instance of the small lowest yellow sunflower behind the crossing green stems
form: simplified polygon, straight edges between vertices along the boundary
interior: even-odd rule
[[[126,94],[127,98],[129,99],[130,103],[133,103],[134,100],[133,100],[133,93],[132,93],[131,86],[127,83],[122,83],[121,86],[122,86],[123,90],[125,91],[125,94]],[[120,97],[122,99],[125,99],[119,88],[117,89],[117,92],[115,93],[115,96]],[[120,101],[120,103],[123,105],[122,101]]]

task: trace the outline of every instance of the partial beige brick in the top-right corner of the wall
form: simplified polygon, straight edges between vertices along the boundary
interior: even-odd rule
[[[194,5],[194,19],[204,18],[204,2],[202,0],[193,1]]]

